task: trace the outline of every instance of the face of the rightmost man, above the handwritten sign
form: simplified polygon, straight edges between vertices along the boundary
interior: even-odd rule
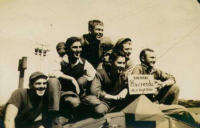
[[[156,63],[156,55],[154,52],[146,51],[146,58],[145,58],[145,64],[151,68],[154,67]]]

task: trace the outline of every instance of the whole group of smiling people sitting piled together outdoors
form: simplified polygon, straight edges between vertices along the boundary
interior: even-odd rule
[[[154,76],[158,93],[147,95],[152,102],[177,104],[179,88],[175,78],[154,67],[156,56],[152,49],[143,49],[141,64],[134,66],[130,38],[120,38],[114,45],[103,35],[100,20],[89,21],[88,30],[81,38],[70,37],[57,44],[57,71],[48,76],[34,72],[29,89],[13,92],[6,105],[5,128],[62,127],[61,117],[66,123],[80,116],[99,117],[120,111],[137,97],[129,95],[130,74]]]

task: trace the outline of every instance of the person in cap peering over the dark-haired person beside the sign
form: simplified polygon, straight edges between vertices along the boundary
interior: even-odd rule
[[[124,52],[127,65],[125,68],[125,73],[130,72],[134,68],[133,59],[130,58],[132,53],[132,41],[130,38],[120,38],[115,44],[114,51]]]

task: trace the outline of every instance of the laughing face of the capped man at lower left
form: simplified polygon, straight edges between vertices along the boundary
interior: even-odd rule
[[[47,80],[39,78],[33,83],[33,89],[38,96],[43,96],[47,88]]]

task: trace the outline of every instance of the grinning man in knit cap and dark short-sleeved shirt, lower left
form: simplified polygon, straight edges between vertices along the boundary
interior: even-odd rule
[[[29,78],[29,89],[15,90],[6,105],[5,128],[44,127],[41,114],[45,110],[44,95],[47,76],[34,72]]]

